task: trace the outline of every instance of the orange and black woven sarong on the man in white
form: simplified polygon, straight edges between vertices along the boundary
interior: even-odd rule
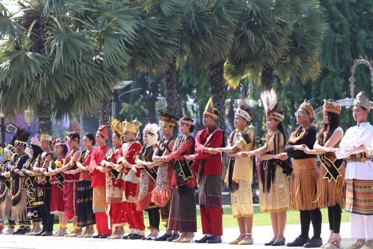
[[[347,179],[346,212],[373,215],[373,180]]]

